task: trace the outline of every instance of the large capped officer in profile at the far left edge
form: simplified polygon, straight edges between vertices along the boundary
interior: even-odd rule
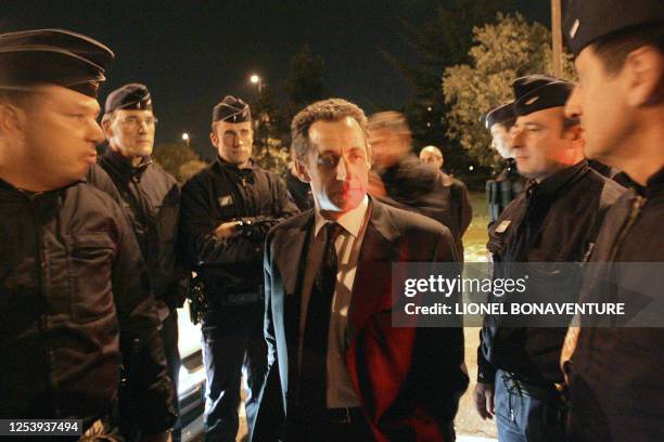
[[[174,390],[140,250],[82,180],[113,56],[65,30],[0,35],[0,418],[82,419],[116,440],[122,360],[140,438],[165,440]]]

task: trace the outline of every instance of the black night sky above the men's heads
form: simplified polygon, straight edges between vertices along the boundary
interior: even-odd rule
[[[478,0],[480,1],[480,0]],[[368,113],[399,108],[410,91],[381,49],[414,62],[400,20],[424,23],[444,0],[337,1],[34,1],[3,0],[0,31],[56,27],[95,38],[116,61],[100,99],[127,82],[150,88],[158,142],[187,131],[205,156],[212,107],[224,95],[246,101],[257,73],[276,92],[303,44],[325,61],[330,92]],[[515,1],[514,10],[549,26],[549,1]]]

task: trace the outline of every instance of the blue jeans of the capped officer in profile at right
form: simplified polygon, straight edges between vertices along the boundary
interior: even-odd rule
[[[511,388],[506,374],[496,374],[496,425],[500,442],[562,442],[563,404],[557,395],[537,399]]]

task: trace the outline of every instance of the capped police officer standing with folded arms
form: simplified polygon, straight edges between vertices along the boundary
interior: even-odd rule
[[[207,441],[234,441],[240,378],[246,369],[250,433],[266,373],[263,245],[269,227],[297,212],[283,181],[251,159],[250,107],[226,96],[213,109],[218,158],[182,188],[181,235],[204,284]],[[293,257],[296,259],[296,257]]]

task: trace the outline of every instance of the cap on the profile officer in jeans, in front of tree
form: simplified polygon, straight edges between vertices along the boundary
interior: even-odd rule
[[[529,75],[514,80],[514,116],[532,114],[549,107],[564,106],[573,84],[546,75]]]

